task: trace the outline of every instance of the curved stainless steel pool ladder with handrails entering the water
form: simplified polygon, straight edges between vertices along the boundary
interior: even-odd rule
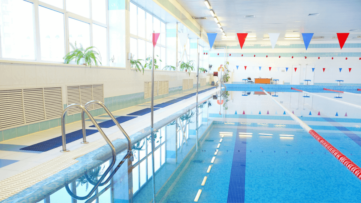
[[[124,156],[124,158],[122,159],[122,161],[119,162],[119,164],[116,166],[116,168],[114,168],[113,172],[109,175],[108,179],[106,179],[104,182],[101,182],[105,179],[105,176],[109,173],[109,171],[112,169],[112,167],[114,166],[115,162],[116,162],[116,150],[114,148],[114,145],[112,144],[112,142],[109,140],[109,138],[105,135],[104,131],[101,130],[100,126],[98,125],[98,123],[95,121],[95,119],[93,118],[93,116],[90,114],[90,112],[88,111],[87,107],[90,104],[99,104],[101,107],[104,108],[105,112],[108,113],[108,115],[110,116],[110,118],[112,118],[112,120],[114,121],[114,123],[118,126],[119,130],[124,134],[124,136],[126,137],[127,141],[128,141],[128,150],[126,155]],[[96,190],[96,188],[98,186],[103,186],[105,184],[107,184],[109,182],[109,180],[114,176],[114,174],[118,171],[118,169],[122,166],[122,164],[125,162],[125,160],[127,158],[130,159],[130,161],[134,161],[134,156],[132,154],[132,143],[130,140],[129,135],[125,132],[125,130],[122,128],[122,126],[119,124],[119,122],[117,121],[117,119],[113,116],[112,113],[110,113],[109,109],[106,108],[106,106],[99,102],[99,101],[91,101],[86,103],[85,105],[81,105],[81,104],[70,104],[68,105],[68,107],[66,107],[63,110],[63,114],[61,117],[61,136],[62,136],[62,145],[63,148],[60,152],[69,152],[69,150],[66,149],[66,135],[65,135],[65,114],[66,112],[68,112],[69,109],[71,108],[80,108],[82,109],[82,130],[83,130],[83,141],[81,142],[82,144],[86,144],[88,143],[86,141],[86,130],[85,130],[85,113],[87,114],[87,116],[90,118],[91,122],[94,124],[94,126],[98,129],[98,131],[100,132],[100,134],[103,136],[103,138],[105,139],[106,143],[108,143],[108,145],[110,146],[110,149],[112,150],[112,155],[113,155],[113,159],[112,159],[112,163],[109,165],[109,167],[105,170],[105,172],[103,173],[103,175],[100,177],[100,179],[97,182],[93,182],[87,175],[87,172],[84,172],[84,175],[86,177],[86,179],[88,180],[88,182],[90,182],[90,184],[94,185],[93,189],[89,192],[88,195],[84,196],[84,197],[79,197],[77,195],[75,195],[70,189],[69,189],[69,185],[65,184],[65,189],[66,191],[68,191],[68,193],[70,194],[71,197],[73,197],[74,199],[79,199],[79,200],[84,200],[84,199],[88,199],[90,198],[91,194]]]

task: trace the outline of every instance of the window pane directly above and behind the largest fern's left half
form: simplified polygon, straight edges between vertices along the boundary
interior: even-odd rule
[[[69,18],[69,42],[74,45],[75,41],[78,47],[90,46],[90,24]]]

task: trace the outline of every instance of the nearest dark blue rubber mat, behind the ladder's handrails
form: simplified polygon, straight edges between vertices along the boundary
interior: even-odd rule
[[[85,132],[86,132],[86,135],[88,136],[88,135],[98,132],[98,130],[86,129]],[[70,133],[66,134],[65,137],[66,137],[66,143],[71,143],[75,140],[83,138],[83,130],[80,129],[80,130],[77,130],[74,132],[70,132]],[[43,141],[41,143],[26,146],[24,148],[21,148],[21,150],[46,152],[48,150],[57,148],[58,146],[61,146],[61,145],[62,145],[61,136],[59,136],[59,137],[55,137],[50,140]]]

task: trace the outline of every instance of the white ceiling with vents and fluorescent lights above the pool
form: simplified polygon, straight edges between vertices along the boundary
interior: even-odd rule
[[[210,9],[204,0],[177,1],[193,17],[208,18],[196,21],[206,32],[219,33],[216,41],[223,41],[223,35],[210,9],[227,37],[249,32],[248,35],[256,35],[257,41],[262,41],[268,33],[281,33],[279,40],[282,41],[285,35],[314,33],[314,37],[324,37],[317,40],[337,41],[332,39],[336,32],[349,32],[348,40],[361,40],[357,38],[361,35],[361,0],[208,0]],[[255,17],[245,18],[245,15]],[[302,37],[299,40],[302,41]]]

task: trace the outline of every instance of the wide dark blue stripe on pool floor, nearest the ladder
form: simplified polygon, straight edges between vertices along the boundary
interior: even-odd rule
[[[247,138],[238,136],[239,132],[245,132],[245,130],[238,129],[235,135],[236,142],[234,144],[231,177],[229,181],[227,197],[227,202],[230,203],[244,203]]]

